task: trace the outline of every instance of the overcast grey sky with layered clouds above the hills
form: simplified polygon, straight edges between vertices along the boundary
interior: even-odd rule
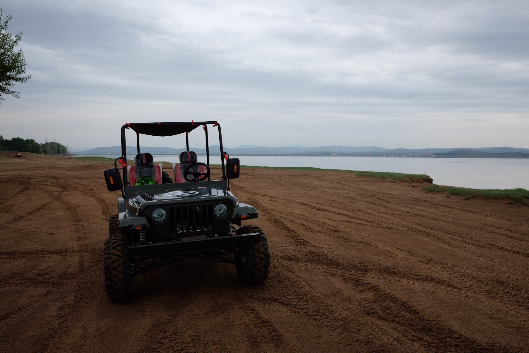
[[[5,138],[115,146],[125,122],[194,119],[227,147],[529,148],[526,0],[0,6],[32,75]]]

